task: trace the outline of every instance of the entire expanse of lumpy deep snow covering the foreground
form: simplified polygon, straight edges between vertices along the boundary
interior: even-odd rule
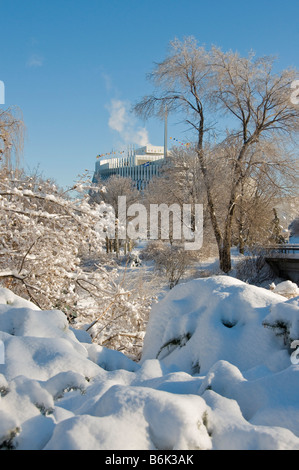
[[[153,307],[142,360],[0,289],[3,449],[299,450],[299,297],[229,276]]]

